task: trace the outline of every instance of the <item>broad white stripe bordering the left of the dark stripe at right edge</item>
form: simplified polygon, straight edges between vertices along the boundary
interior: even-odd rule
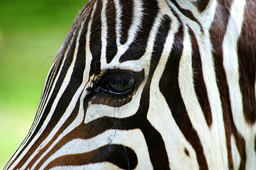
[[[243,10],[245,1],[235,0],[230,10],[230,18],[226,29],[226,35],[223,41],[223,65],[229,86],[230,103],[233,113],[234,124],[238,131],[245,138],[246,145],[246,169],[256,167],[256,155],[254,148],[254,139],[256,134],[256,125],[247,124],[242,105],[242,93],[239,83],[239,64],[237,54],[237,41],[241,34],[243,24]]]

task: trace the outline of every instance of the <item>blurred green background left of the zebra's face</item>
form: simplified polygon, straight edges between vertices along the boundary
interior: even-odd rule
[[[49,68],[87,0],[0,0],[0,169],[28,133]]]

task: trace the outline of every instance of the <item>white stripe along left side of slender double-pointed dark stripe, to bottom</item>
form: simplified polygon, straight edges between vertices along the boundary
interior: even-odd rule
[[[184,49],[179,67],[179,87],[181,96],[187,109],[189,119],[191,120],[193,128],[197,131],[201,145],[204,148],[204,155],[209,169],[226,169],[226,167],[228,167],[228,151],[226,150],[224,124],[216,124],[218,120],[213,120],[212,129],[218,129],[217,134],[214,133],[214,130],[210,131],[208,128],[193,85],[192,49],[187,27],[184,27],[184,33]],[[221,122],[222,121],[223,119]]]

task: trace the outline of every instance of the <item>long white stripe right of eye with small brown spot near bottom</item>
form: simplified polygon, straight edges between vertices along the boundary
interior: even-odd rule
[[[160,9],[160,11],[162,10]],[[168,32],[166,43],[164,44],[160,61],[152,77],[150,86],[150,108],[148,110],[147,119],[163,137],[171,169],[199,169],[195,151],[177,126],[168,108],[168,104],[159,90],[159,81],[172,49],[174,35],[179,27],[175,16],[172,14],[168,15],[171,18],[172,24]],[[189,156],[184,153],[184,148],[187,148],[189,151]],[[179,155],[178,158],[177,155]]]

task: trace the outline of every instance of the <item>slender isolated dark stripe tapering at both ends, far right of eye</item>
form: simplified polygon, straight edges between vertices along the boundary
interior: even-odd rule
[[[196,36],[192,29],[189,29],[192,41],[192,67],[193,67],[193,79],[195,82],[195,91],[200,103],[201,109],[204,113],[204,118],[207,125],[212,125],[212,112],[210,111],[210,103],[207,94],[207,88],[204,82],[204,75],[202,70],[202,61],[197,44]]]

